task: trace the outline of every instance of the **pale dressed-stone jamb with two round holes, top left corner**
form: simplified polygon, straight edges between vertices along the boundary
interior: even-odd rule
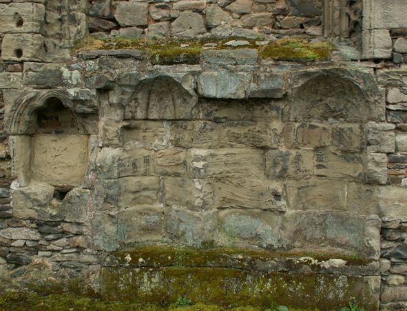
[[[1,59],[58,61],[87,33],[85,0],[4,0],[0,3]]]

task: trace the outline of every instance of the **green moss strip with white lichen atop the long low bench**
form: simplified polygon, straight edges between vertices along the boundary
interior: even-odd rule
[[[194,249],[172,245],[138,245],[113,252],[116,265],[133,267],[234,267],[255,270],[256,263],[284,259],[286,265],[318,265],[329,259],[342,259],[347,266],[367,265],[372,261],[357,254],[335,254],[326,252],[281,252],[260,249],[211,248]]]

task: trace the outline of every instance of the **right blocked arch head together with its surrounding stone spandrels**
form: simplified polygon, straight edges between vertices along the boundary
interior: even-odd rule
[[[306,70],[290,80],[287,121],[384,121],[384,93],[370,70]]]

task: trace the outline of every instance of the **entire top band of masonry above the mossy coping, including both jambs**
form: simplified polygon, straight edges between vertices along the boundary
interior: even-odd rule
[[[407,61],[407,2],[385,0],[2,0],[3,61],[67,59],[74,41],[107,37],[301,36],[346,39],[351,59]],[[351,41],[348,41],[351,39]]]

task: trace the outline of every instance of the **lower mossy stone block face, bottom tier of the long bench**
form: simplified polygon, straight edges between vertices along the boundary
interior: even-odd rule
[[[349,301],[365,310],[379,307],[380,277],[281,272],[233,268],[102,268],[105,299],[165,301],[180,296],[218,305],[273,304],[293,308],[339,309]]]

